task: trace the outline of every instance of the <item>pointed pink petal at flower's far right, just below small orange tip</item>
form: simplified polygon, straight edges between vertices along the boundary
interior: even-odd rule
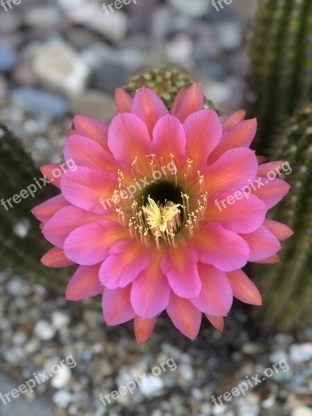
[[[286,193],[289,192],[289,189],[291,189],[291,185],[284,182],[284,180],[280,179],[275,179],[272,181],[261,180],[261,184],[262,185],[259,188],[260,185],[259,182],[257,182],[257,190],[252,191],[252,193],[254,193],[254,195],[263,200],[263,202],[266,204],[267,209],[270,209],[277,205],[277,203],[284,198]]]

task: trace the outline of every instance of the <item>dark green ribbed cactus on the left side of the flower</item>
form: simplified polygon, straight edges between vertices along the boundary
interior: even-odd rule
[[[0,266],[10,267],[23,277],[64,293],[72,272],[46,268],[40,263],[42,255],[51,246],[40,236],[38,221],[31,214],[35,205],[57,193],[55,187],[50,184],[39,189],[35,198],[28,196],[17,204],[12,201],[14,195],[34,184],[35,178],[38,180],[41,176],[21,143],[0,125],[0,199],[4,201],[0,205]],[[10,198],[12,207],[7,202]]]

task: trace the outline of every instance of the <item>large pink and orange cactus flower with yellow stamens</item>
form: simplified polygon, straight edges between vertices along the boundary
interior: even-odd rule
[[[277,174],[284,162],[257,158],[257,121],[243,111],[220,121],[197,84],[170,112],[146,87],[115,99],[110,125],[74,117],[71,168],[55,177],[59,164],[42,167],[61,191],[33,209],[54,245],[42,263],[78,264],[67,300],[101,293],[107,325],[133,319],[138,343],[163,311],[191,339],[202,313],[222,331],[233,297],[261,304],[241,268],[279,261],[279,241],[292,234],[266,219],[290,188]]]

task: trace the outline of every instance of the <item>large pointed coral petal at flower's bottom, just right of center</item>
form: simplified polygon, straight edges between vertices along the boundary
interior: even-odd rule
[[[197,336],[202,322],[202,313],[189,300],[171,292],[166,311],[175,327],[185,336],[191,340]]]

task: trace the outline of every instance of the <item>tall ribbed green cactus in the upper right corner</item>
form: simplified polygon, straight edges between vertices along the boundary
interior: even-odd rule
[[[285,116],[312,99],[312,1],[259,0],[250,58],[250,116],[266,152]],[[260,149],[259,149],[260,150]]]

